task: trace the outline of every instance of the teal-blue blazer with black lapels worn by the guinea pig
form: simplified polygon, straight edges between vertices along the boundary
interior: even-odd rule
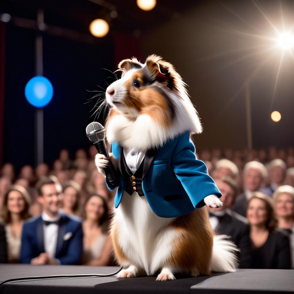
[[[138,138],[140,140],[140,138]],[[121,173],[121,146],[111,144],[111,152],[118,159],[114,206],[121,202],[125,181]],[[161,217],[183,216],[205,205],[203,199],[211,194],[219,198],[221,193],[208,175],[205,163],[195,155],[195,146],[188,132],[169,140],[157,150],[148,150],[143,163],[142,189],[152,211]],[[133,196],[134,197],[134,194]]]

